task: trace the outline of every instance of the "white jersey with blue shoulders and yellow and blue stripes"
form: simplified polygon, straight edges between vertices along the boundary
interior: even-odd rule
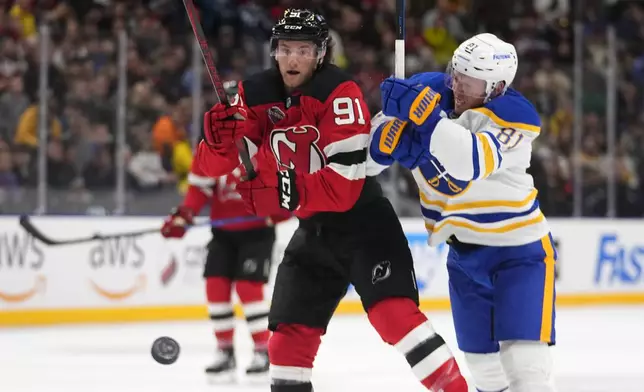
[[[442,100],[451,99],[442,93]],[[441,102],[446,106],[451,103]],[[547,235],[550,229],[526,172],[540,131],[533,105],[508,89],[456,119],[442,114],[429,145],[434,159],[413,170],[429,245],[454,235],[465,243],[516,246]],[[372,134],[390,119],[374,116]],[[370,159],[367,175],[384,168]]]

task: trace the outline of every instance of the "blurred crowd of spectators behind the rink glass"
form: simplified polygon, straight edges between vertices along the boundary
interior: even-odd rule
[[[226,80],[271,66],[287,7],[316,7],[372,114],[393,73],[395,0],[196,0]],[[491,6],[491,4],[494,4]],[[442,71],[479,32],[519,53],[537,106],[531,172],[547,216],[641,217],[644,6],[607,0],[407,0],[406,72]],[[165,215],[216,102],[178,0],[0,0],[0,213]],[[380,178],[417,216],[404,169]]]

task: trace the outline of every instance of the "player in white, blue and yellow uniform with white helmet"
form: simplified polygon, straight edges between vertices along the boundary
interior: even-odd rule
[[[429,244],[450,245],[457,340],[481,392],[555,390],[557,255],[526,173],[540,119],[509,88],[517,66],[513,45],[479,34],[446,73],[386,79],[372,121],[369,175],[411,169]]]

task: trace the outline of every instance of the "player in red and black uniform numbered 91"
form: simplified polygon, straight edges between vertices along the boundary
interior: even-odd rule
[[[299,227],[279,265],[269,314],[271,390],[311,392],[313,361],[353,283],[369,321],[429,390],[465,392],[451,351],[418,309],[407,239],[376,179],[366,176],[370,118],[358,85],[329,63],[322,16],[289,9],[272,31],[275,66],[205,116],[199,167],[234,169],[255,215],[293,211]],[[243,139],[242,139],[243,138]],[[235,140],[253,155],[248,178]]]

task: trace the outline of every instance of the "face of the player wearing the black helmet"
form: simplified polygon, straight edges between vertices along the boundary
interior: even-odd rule
[[[275,60],[286,87],[297,88],[313,75],[318,62],[318,48],[308,41],[279,41]]]

